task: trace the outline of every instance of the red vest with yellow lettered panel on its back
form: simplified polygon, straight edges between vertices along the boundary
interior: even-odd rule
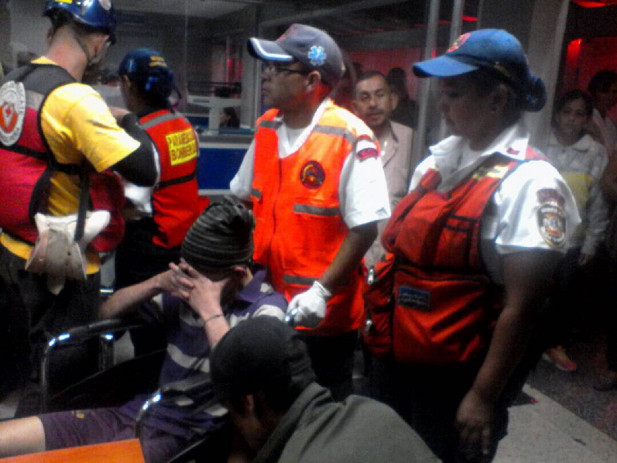
[[[197,187],[199,141],[183,115],[162,109],[139,119],[160,159],[160,181],[152,193],[152,242],[164,248],[180,246],[201,212]]]

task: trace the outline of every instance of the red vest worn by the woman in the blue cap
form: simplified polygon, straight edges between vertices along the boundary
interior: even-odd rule
[[[536,159],[529,148],[526,159]],[[397,256],[392,349],[409,364],[455,364],[486,351],[503,308],[480,256],[481,218],[520,161],[495,154],[447,193],[429,170],[395,208],[383,243]]]

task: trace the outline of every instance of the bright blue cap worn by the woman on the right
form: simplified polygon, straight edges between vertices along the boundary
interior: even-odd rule
[[[465,33],[444,55],[413,65],[417,77],[456,77],[479,69],[509,83],[523,99],[526,111],[540,111],[544,107],[544,82],[531,74],[521,43],[505,30]]]

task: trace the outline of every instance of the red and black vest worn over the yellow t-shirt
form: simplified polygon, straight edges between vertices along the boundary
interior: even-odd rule
[[[122,184],[110,171],[86,174],[81,165],[57,162],[41,129],[40,111],[49,94],[73,82],[62,67],[32,63],[0,81],[0,228],[34,244],[38,236],[34,216],[37,212],[49,214],[47,200],[54,172],[89,175],[94,207],[112,213],[110,225],[91,242],[97,251],[106,251],[124,232],[119,214],[124,195],[118,185]]]

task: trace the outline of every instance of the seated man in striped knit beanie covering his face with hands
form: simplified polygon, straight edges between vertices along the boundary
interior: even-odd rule
[[[159,384],[190,378],[210,369],[210,349],[231,326],[256,315],[283,319],[286,301],[249,270],[254,219],[241,204],[211,204],[189,229],[181,262],[170,270],[114,294],[99,310],[102,318],[127,314],[150,301],[163,319],[167,356]],[[206,388],[203,400],[212,398]],[[120,407],[68,411],[0,423],[0,457],[133,438],[135,418],[146,396]],[[204,433],[224,433],[221,407],[200,414],[194,408],[158,404],[142,433],[146,462],[162,462]],[[222,452],[227,440],[220,440]],[[213,459],[213,461],[216,461]]]

